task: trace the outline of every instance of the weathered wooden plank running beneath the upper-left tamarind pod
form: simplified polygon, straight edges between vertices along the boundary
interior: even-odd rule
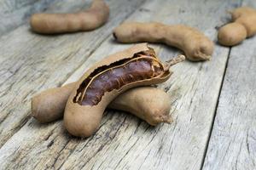
[[[111,34],[113,27],[142,2],[108,1],[109,21],[96,31],[40,36],[25,25],[0,38],[0,146],[29,119],[32,94],[65,82]],[[65,9],[69,3],[56,5],[55,10]],[[75,1],[73,7],[84,3]]]

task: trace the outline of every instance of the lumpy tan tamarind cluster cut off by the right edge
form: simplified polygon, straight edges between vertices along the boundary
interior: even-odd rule
[[[256,34],[256,10],[249,7],[236,8],[230,12],[233,22],[218,30],[218,42],[234,46]]]

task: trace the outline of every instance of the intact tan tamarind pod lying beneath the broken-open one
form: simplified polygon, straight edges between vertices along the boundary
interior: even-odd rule
[[[49,88],[34,96],[32,116],[38,122],[54,122],[61,119],[75,83],[69,83],[61,88]],[[113,99],[108,108],[130,112],[152,126],[160,122],[172,122],[169,116],[171,109],[169,95],[154,87],[131,88]]]

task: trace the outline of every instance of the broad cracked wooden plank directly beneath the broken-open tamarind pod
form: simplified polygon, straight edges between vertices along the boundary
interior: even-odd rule
[[[215,39],[214,27],[226,21],[220,20],[225,10],[238,4],[221,0],[189,5],[184,0],[147,1],[129,20],[183,23]],[[67,82],[78,79],[97,59],[127,46],[108,37]],[[160,47],[161,59],[178,53],[175,48]],[[172,96],[172,125],[150,127],[135,116],[107,111],[94,136],[74,139],[61,122],[40,125],[30,119],[1,148],[0,164],[2,168],[200,169],[228,53],[228,48],[217,45],[211,61],[184,62],[173,68],[172,78],[159,87]]]

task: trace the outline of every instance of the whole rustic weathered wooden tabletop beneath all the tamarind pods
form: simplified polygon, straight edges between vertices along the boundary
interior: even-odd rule
[[[0,169],[256,169],[256,37],[215,45],[211,61],[185,61],[158,88],[172,97],[174,122],[150,127],[106,111],[97,132],[73,138],[62,121],[40,124],[31,98],[78,80],[97,60],[132,44],[113,41],[125,20],[185,24],[216,42],[227,10],[255,0],[108,0],[108,23],[96,31],[41,36],[28,19],[39,11],[87,8],[89,0],[0,0]],[[160,59],[181,53],[154,45]]]

